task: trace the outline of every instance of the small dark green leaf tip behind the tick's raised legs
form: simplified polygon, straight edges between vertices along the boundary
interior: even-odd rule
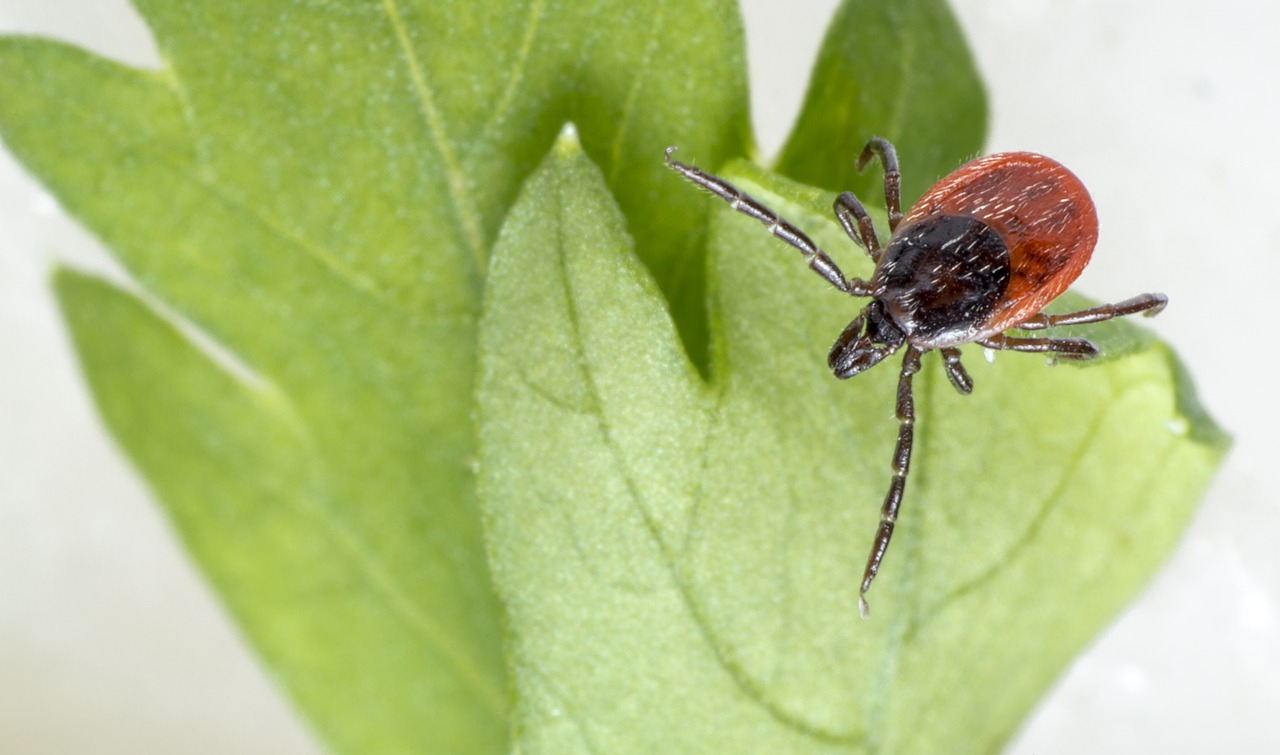
[[[977,155],[986,132],[987,96],[945,0],[845,0],[777,169],[878,202],[881,173],[854,165],[881,136],[897,147],[905,209]]]

